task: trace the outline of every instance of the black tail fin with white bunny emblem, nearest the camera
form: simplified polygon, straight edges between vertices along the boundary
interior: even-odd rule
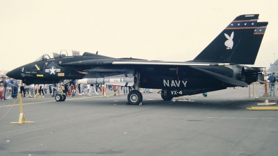
[[[250,53],[254,30],[259,14],[236,17],[206,48],[197,55],[194,62],[222,62],[230,64],[248,64],[250,59],[237,59]],[[258,50],[259,51],[259,50]],[[245,58],[246,59],[246,58]],[[256,59],[256,57],[252,58]]]

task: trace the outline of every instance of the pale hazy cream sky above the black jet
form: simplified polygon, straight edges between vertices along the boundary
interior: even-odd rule
[[[0,69],[62,49],[115,58],[193,60],[236,16],[268,21],[256,66],[278,58],[277,0],[0,0]]]

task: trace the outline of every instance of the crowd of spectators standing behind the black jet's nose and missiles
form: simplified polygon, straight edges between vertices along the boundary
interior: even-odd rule
[[[17,98],[19,93],[22,94],[23,98],[33,98],[37,94],[42,96],[42,98],[44,98],[46,94],[55,96],[57,94],[58,86],[61,87],[61,90],[67,96],[76,96],[76,94],[87,94],[88,96],[91,96],[92,93],[99,94],[98,92],[102,92],[104,87],[104,85],[78,83],[77,80],[73,80],[70,83],[67,83],[67,80],[64,80],[60,84],[26,85],[22,83],[22,80],[15,80],[13,78],[8,78],[7,76],[2,76],[0,79],[0,100],[3,101],[7,98]],[[106,85],[106,89],[113,91],[114,96],[120,94],[120,90],[122,90],[124,94],[129,94],[129,92],[131,92],[131,87],[120,87],[115,85]],[[144,93],[146,90],[149,93],[152,92],[149,89],[144,89]]]

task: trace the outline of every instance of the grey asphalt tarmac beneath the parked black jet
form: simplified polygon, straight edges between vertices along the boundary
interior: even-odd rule
[[[256,87],[256,95],[263,87]],[[263,101],[248,88],[163,101],[156,90],[143,105],[126,95],[92,94],[0,101],[0,155],[278,155],[278,112],[247,110]],[[278,91],[277,91],[278,93]],[[273,98],[277,100],[275,97]]]

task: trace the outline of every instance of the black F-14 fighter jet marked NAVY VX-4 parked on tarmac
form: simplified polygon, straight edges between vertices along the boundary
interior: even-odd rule
[[[258,79],[254,64],[268,22],[259,15],[240,15],[194,60],[169,62],[135,58],[111,58],[72,51],[42,55],[35,62],[7,73],[26,84],[51,84],[65,79],[81,79],[88,84],[131,86],[129,104],[140,104],[139,88],[161,89],[165,101],[173,97],[212,92],[227,87],[247,87]],[[62,100],[61,100],[62,99]],[[65,99],[64,99],[65,100]],[[56,95],[56,101],[64,101]]]

